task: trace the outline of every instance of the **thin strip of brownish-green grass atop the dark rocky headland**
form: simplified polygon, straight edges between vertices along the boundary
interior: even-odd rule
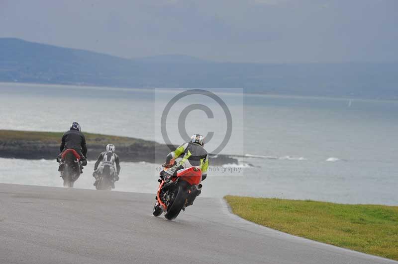
[[[114,136],[114,135],[102,135],[94,133],[83,132],[88,144],[104,142],[112,142],[114,144],[131,145],[134,143],[145,143],[151,144],[151,141],[142,139],[125,137],[125,136]],[[14,130],[0,130],[0,140],[2,141],[15,141],[15,140],[26,140],[26,141],[40,141],[43,143],[59,143],[64,132],[36,132],[36,131],[14,131]]]

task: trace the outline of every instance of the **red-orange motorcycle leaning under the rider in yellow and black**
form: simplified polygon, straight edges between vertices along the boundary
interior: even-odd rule
[[[173,171],[176,168],[177,165],[165,168],[165,170]],[[178,170],[173,175],[167,182],[164,177],[160,176],[156,203],[152,210],[154,216],[159,216],[164,212],[168,220],[175,219],[181,210],[185,211],[187,206],[192,205],[202,187],[199,168],[191,167]]]

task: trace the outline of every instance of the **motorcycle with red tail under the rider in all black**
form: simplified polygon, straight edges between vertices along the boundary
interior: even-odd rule
[[[64,180],[64,187],[73,187],[73,184],[80,176],[80,155],[74,149],[67,149],[62,153],[65,167],[61,172],[61,177]]]

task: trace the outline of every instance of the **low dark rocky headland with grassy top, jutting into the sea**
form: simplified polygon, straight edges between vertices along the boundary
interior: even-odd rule
[[[62,132],[26,132],[0,130],[0,157],[16,159],[55,159],[59,153]],[[163,163],[170,148],[143,139],[85,133],[88,159],[96,160],[107,143],[116,145],[120,161]],[[174,146],[171,146],[172,148]],[[228,155],[210,155],[211,165],[238,163]]]

